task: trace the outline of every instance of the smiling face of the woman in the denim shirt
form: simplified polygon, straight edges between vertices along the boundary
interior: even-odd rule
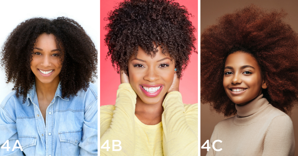
[[[31,70],[35,75],[35,81],[47,84],[60,81],[59,73],[62,67],[63,55],[56,46],[53,34],[43,33],[38,36],[32,54]]]

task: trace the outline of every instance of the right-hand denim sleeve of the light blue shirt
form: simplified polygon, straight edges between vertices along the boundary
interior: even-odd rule
[[[91,93],[90,95],[93,96]],[[88,96],[88,95],[87,95]],[[87,97],[88,98],[88,97]],[[88,98],[88,99],[94,99]],[[97,98],[87,103],[84,114],[83,137],[79,155],[97,155]]]

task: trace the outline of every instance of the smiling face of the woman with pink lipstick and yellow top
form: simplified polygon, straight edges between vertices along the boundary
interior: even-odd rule
[[[137,58],[132,55],[128,61],[130,84],[144,103],[162,103],[173,83],[175,61],[168,53],[162,54],[160,46],[153,58],[141,47],[138,49]]]

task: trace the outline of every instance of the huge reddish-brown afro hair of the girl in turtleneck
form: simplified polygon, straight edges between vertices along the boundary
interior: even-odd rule
[[[236,51],[252,54],[267,81],[263,97],[285,113],[297,104],[298,35],[283,19],[284,10],[265,10],[251,4],[218,19],[201,35],[201,102],[218,113],[237,110],[224,90],[224,64]]]

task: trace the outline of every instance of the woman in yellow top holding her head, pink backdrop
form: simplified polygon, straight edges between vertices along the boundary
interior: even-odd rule
[[[116,104],[100,107],[100,154],[198,155],[198,104],[183,104],[179,92],[195,51],[189,13],[173,1],[125,0],[108,20],[121,84]]]

